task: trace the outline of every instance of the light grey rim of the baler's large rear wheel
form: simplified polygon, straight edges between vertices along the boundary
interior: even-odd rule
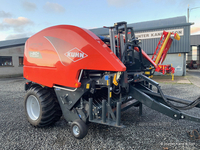
[[[27,98],[26,109],[27,109],[28,116],[32,120],[37,120],[39,118],[40,104],[39,104],[38,99],[34,95],[30,95]]]

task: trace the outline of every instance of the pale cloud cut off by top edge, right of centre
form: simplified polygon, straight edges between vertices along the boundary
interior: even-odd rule
[[[140,0],[107,0],[107,3],[115,7],[123,7],[129,4],[139,2]]]

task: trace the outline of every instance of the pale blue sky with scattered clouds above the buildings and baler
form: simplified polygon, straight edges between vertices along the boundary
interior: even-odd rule
[[[191,34],[200,34],[200,0],[0,0],[0,41],[30,37],[59,24],[83,28],[187,17]]]

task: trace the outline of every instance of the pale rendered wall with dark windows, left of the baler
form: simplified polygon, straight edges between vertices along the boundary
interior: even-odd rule
[[[24,56],[24,46],[0,49],[0,56],[12,56],[13,66],[0,66],[0,76],[17,76],[23,74],[23,66],[19,66],[19,57]]]

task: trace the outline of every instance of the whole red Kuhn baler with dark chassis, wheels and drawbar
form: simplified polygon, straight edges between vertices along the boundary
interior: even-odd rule
[[[151,75],[157,64],[140,48],[132,28],[126,22],[109,28],[110,38],[100,39],[89,30],[59,25],[27,40],[24,77],[30,82],[25,84],[24,104],[28,121],[42,127],[63,115],[79,139],[86,136],[89,122],[123,127],[121,111],[135,106],[141,114],[142,104],[173,119],[200,122],[180,111],[199,107],[199,99],[191,102],[166,96],[145,75],[148,71]],[[121,41],[120,34],[125,35]]]

